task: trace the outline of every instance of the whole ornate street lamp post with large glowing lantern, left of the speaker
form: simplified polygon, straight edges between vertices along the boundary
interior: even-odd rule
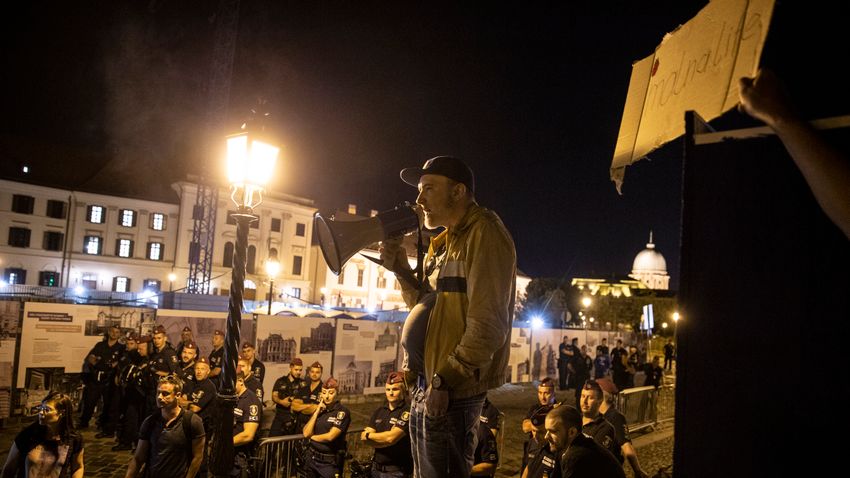
[[[242,293],[245,290],[245,263],[248,255],[248,227],[257,220],[254,208],[263,201],[263,188],[271,178],[279,149],[253,137],[247,131],[227,137],[227,177],[230,199],[236,204],[236,245],[233,249],[230,306],[224,336],[221,389],[218,393],[218,422],[210,448],[210,471],[229,476],[233,468],[233,409],[236,406],[236,362]]]

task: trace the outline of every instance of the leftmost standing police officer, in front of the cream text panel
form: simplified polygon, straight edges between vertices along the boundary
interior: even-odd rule
[[[89,420],[94,414],[94,409],[97,402],[103,396],[104,405],[108,405],[113,394],[104,394],[107,391],[109,382],[113,378],[115,367],[118,366],[118,359],[124,350],[124,345],[119,342],[121,337],[121,329],[117,324],[112,324],[106,331],[103,340],[95,344],[89,351],[85,359],[83,367],[83,413],[80,415],[80,422],[77,428],[88,428]],[[116,395],[117,398],[117,395]],[[101,425],[108,421],[108,414],[104,413],[109,410],[108,406],[104,406],[101,410],[100,419]],[[102,437],[99,437],[102,438]]]

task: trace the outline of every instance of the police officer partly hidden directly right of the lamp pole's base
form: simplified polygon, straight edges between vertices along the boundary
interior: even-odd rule
[[[230,476],[248,476],[251,456],[260,429],[262,407],[257,395],[245,386],[249,375],[244,370],[236,372],[236,408],[233,409],[233,470]]]

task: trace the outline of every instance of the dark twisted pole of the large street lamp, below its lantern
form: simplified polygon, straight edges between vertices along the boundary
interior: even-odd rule
[[[217,395],[218,420],[210,447],[210,471],[214,476],[230,476],[233,469],[233,409],[236,408],[236,363],[239,359],[242,294],[245,290],[245,263],[248,255],[248,228],[257,220],[253,210],[240,206],[236,214],[236,246],[233,249],[233,272],[230,306],[224,335],[224,361],[221,365],[221,389]]]

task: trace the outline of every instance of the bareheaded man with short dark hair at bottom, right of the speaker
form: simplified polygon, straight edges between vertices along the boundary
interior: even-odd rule
[[[557,450],[563,478],[625,478],[611,453],[581,432],[575,407],[561,405],[546,415],[546,440]]]

